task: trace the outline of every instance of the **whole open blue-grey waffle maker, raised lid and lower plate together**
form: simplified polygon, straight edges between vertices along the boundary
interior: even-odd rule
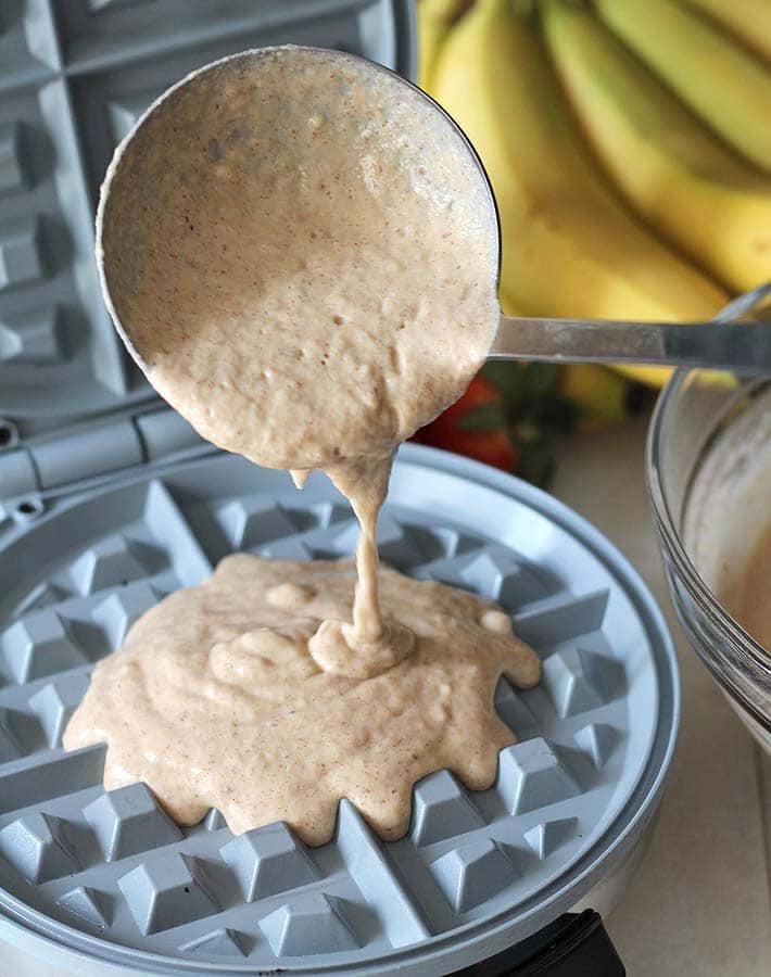
[[[142,784],[104,791],[102,746],[61,748],[93,663],[165,594],[232,550],[356,540],[323,475],[298,493],[201,442],[124,356],[91,258],[111,148],[174,79],[244,47],[410,74],[409,5],[77,0],[54,18],[27,0],[0,20],[1,977],[622,974],[595,910],[660,800],[674,654],[623,557],[511,477],[408,445],[379,526],[384,560],[497,599],[543,659],[535,689],[498,685],[518,743],[489,790],[426,777],[388,843],[343,800],[309,849],[283,824],[233,837],[217,811],[180,828]]]

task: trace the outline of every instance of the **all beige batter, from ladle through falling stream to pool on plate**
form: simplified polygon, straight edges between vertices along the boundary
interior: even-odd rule
[[[514,740],[496,682],[539,678],[502,611],[378,575],[393,452],[497,326],[486,183],[418,92],[304,49],[193,76],[110,179],[105,287],[152,383],[219,446],[326,470],[362,524],[358,582],[349,620],[349,563],[224,560],[99,663],[65,747],[106,740],[106,786],[144,779],[186,823],[216,807],[317,843],[349,797],[395,838],[425,774],[490,785]]]

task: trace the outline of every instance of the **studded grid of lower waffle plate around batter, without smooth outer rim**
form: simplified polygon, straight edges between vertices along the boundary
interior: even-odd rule
[[[496,708],[520,741],[502,751],[489,790],[468,791],[447,771],[426,777],[408,834],[391,843],[343,801],[333,841],[308,849],[283,824],[233,837],[214,811],[180,828],[144,785],[102,788],[103,748],[62,753],[90,662],[165,593],[238,548],[353,553],[355,522],[336,498],[210,500],[178,487],[116,493],[101,535],[31,587],[45,606],[27,610],[22,597],[0,629],[0,886],[24,879],[55,918],[124,946],[270,967],[429,939],[502,899],[523,901],[581,850],[625,746],[623,689],[603,672],[607,594],[574,595],[502,545],[399,506],[382,520],[390,562],[501,600],[543,649],[540,687],[498,686]]]

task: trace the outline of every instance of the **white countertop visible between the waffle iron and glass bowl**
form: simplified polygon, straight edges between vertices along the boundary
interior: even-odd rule
[[[629,557],[680,658],[683,711],[658,827],[606,921],[630,977],[771,975],[771,758],[696,657],[672,609],[645,495],[646,420],[583,435],[552,486]]]

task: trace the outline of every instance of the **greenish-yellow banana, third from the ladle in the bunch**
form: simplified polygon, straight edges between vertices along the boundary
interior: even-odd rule
[[[603,18],[735,150],[771,172],[771,71],[673,0],[595,0]]]

